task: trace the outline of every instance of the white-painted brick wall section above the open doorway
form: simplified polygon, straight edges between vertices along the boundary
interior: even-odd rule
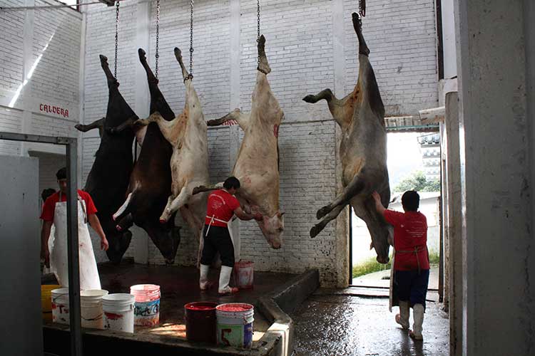
[[[358,41],[351,13],[357,1],[344,1],[345,86],[357,83]],[[367,1],[362,21],[370,62],[387,116],[417,115],[438,105],[437,30],[433,0]]]

